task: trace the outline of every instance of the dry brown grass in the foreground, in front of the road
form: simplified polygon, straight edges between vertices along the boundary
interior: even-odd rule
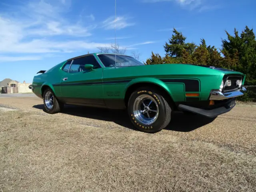
[[[255,191],[256,158],[202,141],[0,112],[0,191]]]

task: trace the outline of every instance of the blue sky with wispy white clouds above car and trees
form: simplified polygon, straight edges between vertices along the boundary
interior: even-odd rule
[[[1,0],[0,80],[32,82],[68,58],[114,43],[114,0]],[[164,55],[172,28],[220,48],[225,30],[256,25],[255,0],[117,0],[116,36],[126,54]]]

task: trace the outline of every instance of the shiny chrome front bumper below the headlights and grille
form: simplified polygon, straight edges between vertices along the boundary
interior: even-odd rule
[[[224,100],[224,99],[239,97],[244,95],[243,91],[246,91],[245,87],[242,87],[242,90],[240,89],[237,91],[226,92],[226,93],[222,93],[220,91],[214,91],[210,95],[210,100]]]

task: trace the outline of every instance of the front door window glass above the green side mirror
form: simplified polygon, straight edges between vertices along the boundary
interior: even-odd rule
[[[92,64],[94,66],[94,69],[100,68],[100,64],[97,62],[94,56],[88,55],[85,57],[75,59],[70,67],[69,73],[87,71],[84,68],[85,64]]]

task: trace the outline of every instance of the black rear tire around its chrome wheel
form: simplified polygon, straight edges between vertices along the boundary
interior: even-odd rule
[[[51,108],[49,107],[48,104],[46,104],[46,100],[48,97],[46,94],[51,94],[53,96],[53,105]],[[46,88],[44,90],[43,100],[44,100],[44,111],[46,113],[49,113],[49,114],[59,113],[64,108],[64,104],[57,100],[56,96],[54,95],[54,92],[50,88]]]

